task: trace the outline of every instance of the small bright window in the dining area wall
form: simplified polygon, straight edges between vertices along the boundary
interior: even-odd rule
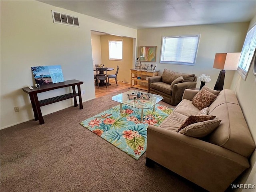
[[[109,40],[109,60],[123,60],[123,40]]]

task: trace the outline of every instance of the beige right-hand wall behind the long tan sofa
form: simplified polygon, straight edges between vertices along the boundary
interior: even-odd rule
[[[256,16],[254,16],[250,22],[248,29],[250,29],[255,23]],[[236,93],[250,132],[254,138],[254,142],[256,143],[256,76],[253,75],[252,67],[253,65],[250,66],[246,80],[243,80],[240,74],[235,72],[231,89]],[[252,154],[250,165],[251,167],[242,175],[239,183],[256,184],[256,150],[254,150],[254,153]],[[244,189],[242,191],[252,190]]]

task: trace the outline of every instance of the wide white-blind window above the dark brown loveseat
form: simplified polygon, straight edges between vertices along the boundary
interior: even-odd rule
[[[160,63],[195,65],[199,37],[163,36]]]

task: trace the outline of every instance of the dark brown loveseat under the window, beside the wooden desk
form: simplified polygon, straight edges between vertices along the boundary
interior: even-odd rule
[[[164,69],[162,76],[148,78],[148,93],[161,95],[163,101],[176,106],[185,89],[196,88],[195,74],[185,74]]]

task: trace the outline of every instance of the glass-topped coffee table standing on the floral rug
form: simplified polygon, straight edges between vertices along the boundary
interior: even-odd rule
[[[140,99],[138,99],[138,93],[140,93]],[[162,100],[162,96],[146,93],[137,90],[130,90],[112,97],[113,101],[120,103],[120,113],[122,112],[122,104],[132,106],[141,109],[140,120],[143,120],[143,110],[153,107],[155,110],[155,105]]]

